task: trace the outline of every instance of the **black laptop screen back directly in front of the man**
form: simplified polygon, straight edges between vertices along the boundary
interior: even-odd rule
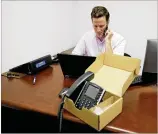
[[[65,77],[78,78],[95,61],[96,57],[72,54],[57,54],[59,63]]]

